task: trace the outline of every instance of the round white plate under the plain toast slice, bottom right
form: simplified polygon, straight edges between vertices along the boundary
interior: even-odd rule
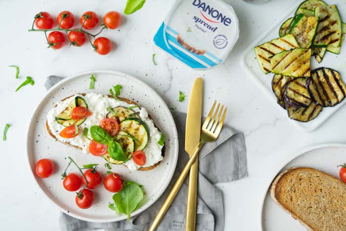
[[[277,174],[291,167],[311,167],[339,179],[338,165],[346,162],[346,144],[321,144],[297,152],[295,157],[272,176],[268,190],[263,197],[261,227],[263,231],[306,231],[270,197],[269,186]],[[280,166],[281,167],[281,166]]]

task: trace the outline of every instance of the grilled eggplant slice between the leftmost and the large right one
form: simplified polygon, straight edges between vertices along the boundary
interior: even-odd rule
[[[306,88],[307,78],[295,78],[286,85],[285,103],[291,107],[308,107],[311,103]]]

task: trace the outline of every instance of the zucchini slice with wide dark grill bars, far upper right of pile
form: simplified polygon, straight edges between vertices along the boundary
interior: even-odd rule
[[[314,15],[318,17],[314,46],[340,46],[342,22],[336,5],[317,6]]]

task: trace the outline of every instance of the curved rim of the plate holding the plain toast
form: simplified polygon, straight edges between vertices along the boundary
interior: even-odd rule
[[[275,179],[275,177],[281,172],[281,170],[287,165],[289,164],[291,161],[293,161],[294,159],[296,159],[297,157],[303,155],[304,153],[306,152],[309,152],[309,151],[313,151],[313,150],[316,150],[316,149],[320,149],[320,148],[326,148],[326,147],[343,147],[343,148],[346,148],[346,144],[343,144],[343,143],[322,143],[322,144],[314,144],[312,146],[307,146],[307,147],[304,147],[302,148],[301,150],[297,151],[295,155],[289,155],[287,158],[285,158],[283,161],[280,162],[280,164],[278,164],[277,168],[275,168],[275,170],[272,171],[272,174],[270,175],[270,179],[268,179],[268,182],[266,183],[266,187],[265,187],[265,190],[263,192],[263,196],[262,196],[262,199],[261,199],[261,209],[259,210],[259,229],[262,230],[262,231],[265,231],[263,229],[264,227],[264,223],[263,223],[263,208],[264,208],[264,202],[265,202],[265,197],[266,197],[266,194],[269,190],[269,187],[271,185],[271,183],[273,182],[273,180]]]

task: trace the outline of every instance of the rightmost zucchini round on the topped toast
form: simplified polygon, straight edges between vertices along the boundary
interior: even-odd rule
[[[136,138],[134,140],[134,150],[143,150],[149,140],[149,130],[145,123],[138,118],[127,118],[119,124],[119,130],[130,134]]]

